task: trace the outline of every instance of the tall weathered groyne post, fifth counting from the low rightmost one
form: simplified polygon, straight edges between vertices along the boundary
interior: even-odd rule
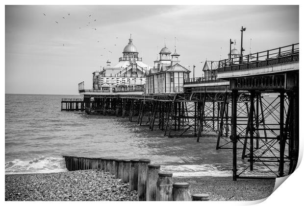
[[[146,201],[147,197],[147,171],[151,160],[141,159],[138,164],[137,200]]]

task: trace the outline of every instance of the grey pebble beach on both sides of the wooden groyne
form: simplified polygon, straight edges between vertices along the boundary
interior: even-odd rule
[[[268,197],[275,180],[230,177],[173,177],[190,184],[191,194],[208,193],[211,201],[249,201]],[[128,183],[101,170],[5,175],[5,201],[137,201]]]

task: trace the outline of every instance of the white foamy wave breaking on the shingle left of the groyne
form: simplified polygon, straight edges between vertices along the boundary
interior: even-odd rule
[[[12,160],[5,162],[5,174],[29,174],[64,172],[65,162],[63,158],[38,157],[32,160]]]

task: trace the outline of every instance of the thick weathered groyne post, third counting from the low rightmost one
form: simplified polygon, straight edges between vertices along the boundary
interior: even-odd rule
[[[156,201],[173,201],[172,173],[159,172],[156,185]]]

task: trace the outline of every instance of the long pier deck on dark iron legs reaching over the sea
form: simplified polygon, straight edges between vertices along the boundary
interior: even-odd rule
[[[166,83],[165,74],[164,88],[155,88],[154,79],[152,85],[147,80],[144,87],[124,92],[85,90],[79,83],[80,110],[128,118],[170,138],[194,137],[197,142],[217,138],[215,149],[232,152],[233,180],[291,174],[299,153],[299,44],[212,65],[216,66],[209,69],[215,72],[212,76],[189,78],[187,71],[178,70],[168,74],[171,81]],[[265,93],[275,97],[264,98]],[[73,109],[72,105],[62,110]],[[239,169],[238,159],[247,160],[248,167]],[[255,176],[257,162],[272,175]]]

